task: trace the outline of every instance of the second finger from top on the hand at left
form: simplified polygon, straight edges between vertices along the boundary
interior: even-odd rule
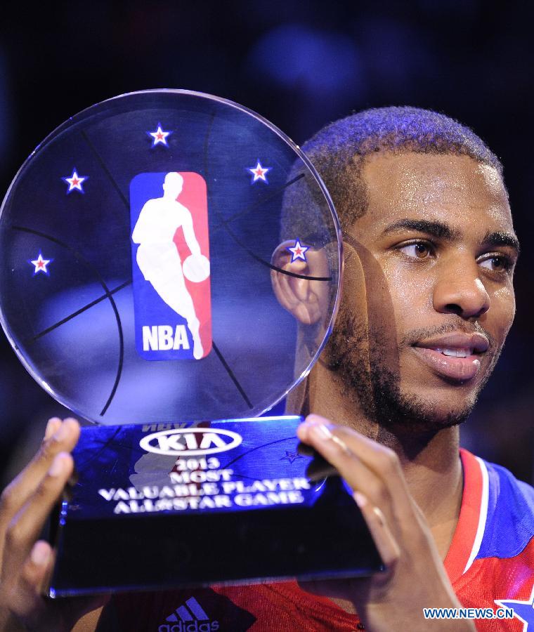
[[[74,461],[70,454],[57,454],[39,487],[11,520],[6,531],[3,574],[18,572],[18,567],[39,536],[44,521],[60,498],[73,467]]]

